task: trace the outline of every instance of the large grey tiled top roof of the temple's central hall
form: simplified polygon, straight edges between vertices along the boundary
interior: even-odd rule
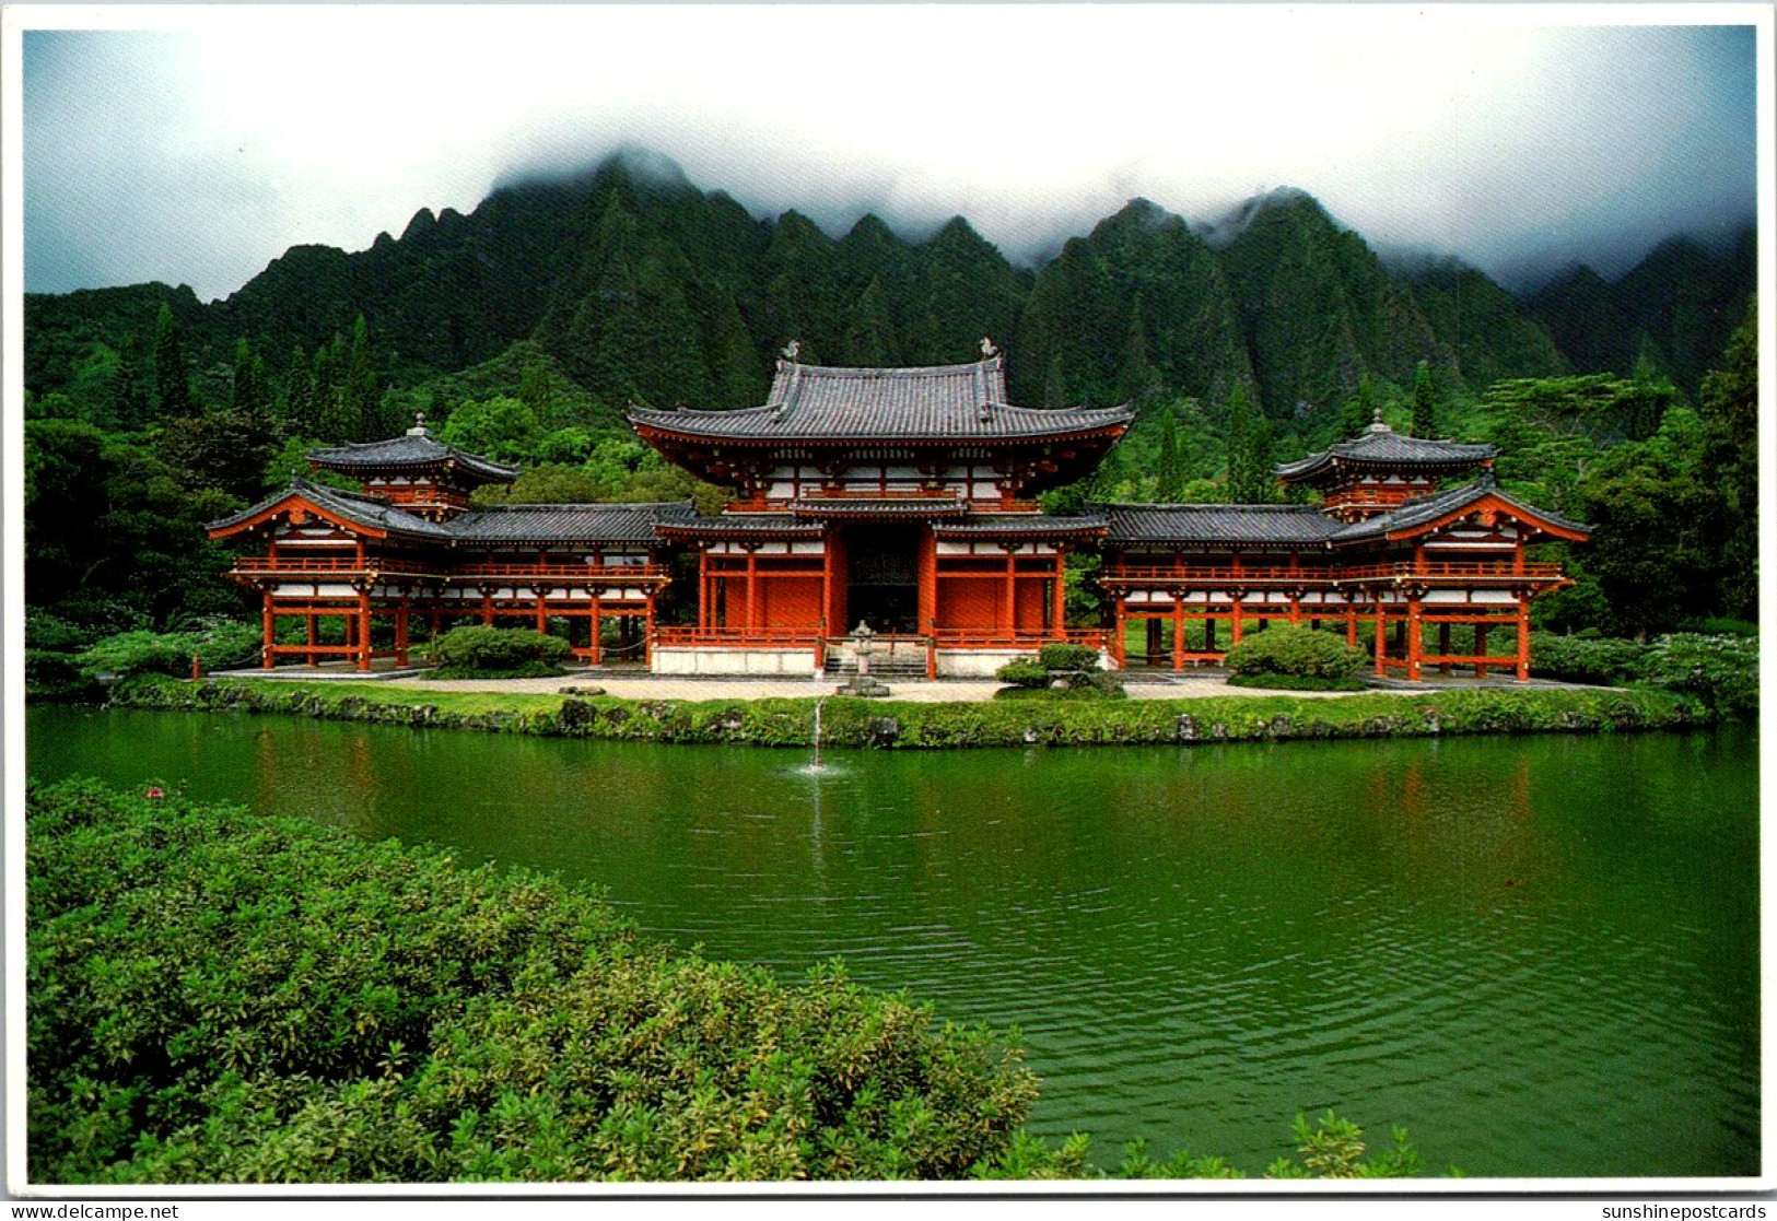
[[[736,441],[1004,441],[1111,428],[1130,419],[1128,407],[1013,407],[1006,402],[999,355],[974,364],[860,370],[778,361],[764,407],[629,412],[634,425]]]

